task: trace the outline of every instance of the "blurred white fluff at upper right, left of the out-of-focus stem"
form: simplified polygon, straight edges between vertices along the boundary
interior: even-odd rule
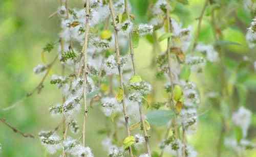
[[[196,50],[205,54],[206,59],[210,62],[216,62],[219,59],[219,54],[212,45],[204,45],[200,43],[197,45]]]

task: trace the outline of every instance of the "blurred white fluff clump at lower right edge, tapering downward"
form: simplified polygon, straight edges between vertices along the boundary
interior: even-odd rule
[[[243,137],[245,138],[251,123],[251,111],[244,107],[240,107],[237,112],[233,113],[232,121],[235,125],[241,127],[243,130]]]

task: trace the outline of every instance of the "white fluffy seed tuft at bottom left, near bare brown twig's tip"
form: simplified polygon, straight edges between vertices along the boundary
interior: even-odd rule
[[[49,153],[54,154],[61,148],[61,138],[52,131],[41,131],[39,134],[41,144],[46,147]]]

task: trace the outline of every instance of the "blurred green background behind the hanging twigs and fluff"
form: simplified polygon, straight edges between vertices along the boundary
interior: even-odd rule
[[[133,0],[131,2],[136,21],[146,22],[148,1]],[[233,22],[224,29],[224,39],[242,44],[242,46],[226,47],[228,56],[226,66],[232,70],[232,67],[243,60],[244,55],[248,55],[251,60],[256,59],[256,54],[252,53],[253,50],[248,49],[245,40],[246,28],[249,27],[252,17],[239,1],[223,2],[230,4],[234,2],[234,6],[226,11],[227,15],[224,14],[230,20],[226,22]],[[200,15],[203,3],[204,1],[201,0],[189,1],[187,6],[177,6],[174,14],[185,26],[191,24],[195,27],[197,24],[195,19]],[[70,7],[79,7],[81,4],[82,2],[78,0],[70,1]],[[49,79],[46,80],[45,88],[41,94],[34,94],[24,99],[27,92],[31,91],[41,79],[40,75],[33,73],[33,67],[42,62],[40,57],[42,47],[47,42],[58,39],[60,21],[58,17],[48,19],[48,16],[56,11],[58,5],[58,1],[50,0],[0,1],[0,118],[6,118],[18,129],[33,135],[37,135],[40,130],[53,129],[60,122],[60,119],[51,117],[48,112],[49,106],[56,104],[61,99],[59,91],[54,86],[50,86]],[[213,40],[207,17],[203,20],[199,40],[206,43]],[[54,50],[56,53],[56,49]],[[148,69],[151,64],[151,51],[152,46],[145,39],[140,41],[140,46],[135,51],[138,71],[142,77],[150,82],[154,80],[154,73]],[[46,60],[48,62],[53,59],[54,53],[47,54]],[[52,73],[60,73],[59,67],[60,65],[56,65]],[[206,68],[212,70],[210,72],[218,73],[218,68],[214,65],[209,65]],[[199,86],[201,92],[212,91],[215,88],[216,82],[212,81],[214,80],[212,78],[209,79],[212,75],[207,74],[210,72],[206,71],[200,76],[193,77],[194,81],[201,85]],[[256,106],[254,104],[256,75],[253,72],[253,66],[250,66],[249,70],[243,71],[241,79],[244,79],[243,85],[247,91],[245,93],[247,97],[245,106],[253,112],[248,138],[256,142]],[[210,83],[211,86],[205,87],[205,83]],[[161,86],[155,88],[157,91],[161,91],[163,85],[160,82],[158,84]],[[157,99],[161,100],[162,93],[157,92],[157,94]],[[17,103],[13,109],[2,110],[12,106],[15,102]],[[234,103],[236,103],[236,99],[234,99]],[[196,135],[188,137],[189,142],[195,146],[198,156],[216,156],[216,145],[221,129],[220,113],[204,95],[202,95],[200,111],[203,114],[199,118],[198,132]],[[95,107],[91,110],[87,124],[90,126],[87,130],[87,135],[90,135],[87,136],[87,143],[91,146],[96,157],[106,156],[100,142],[104,136],[97,134],[97,130],[104,127],[104,119],[99,108]],[[164,128],[161,128],[161,132],[165,133]],[[51,156],[46,154],[45,148],[41,146],[37,138],[23,138],[13,133],[2,123],[0,123],[0,143],[3,146],[0,156],[3,157]],[[158,149],[157,142],[152,140],[151,145],[155,146],[154,150]],[[223,156],[235,156],[224,146],[223,151]],[[246,156],[256,156],[256,151],[248,150]]]

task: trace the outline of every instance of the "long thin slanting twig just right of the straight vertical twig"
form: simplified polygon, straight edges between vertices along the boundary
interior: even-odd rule
[[[117,59],[117,65],[118,65],[118,73],[119,73],[119,84],[122,89],[122,94],[123,94],[123,99],[122,99],[122,106],[123,106],[123,115],[124,115],[124,120],[125,120],[125,127],[127,131],[127,135],[131,136],[130,128],[129,128],[129,116],[126,113],[126,104],[125,104],[125,95],[124,95],[124,88],[123,88],[123,74],[122,74],[122,69],[121,69],[121,59],[120,59],[120,50],[119,50],[119,45],[118,45],[118,29],[117,29],[117,24],[115,20],[115,12],[113,9],[113,2],[112,0],[109,1],[109,7],[110,7],[110,12],[112,16],[112,22],[115,30],[115,50],[116,50],[116,59]],[[133,151],[132,147],[129,147],[129,155],[130,157],[133,157]]]

